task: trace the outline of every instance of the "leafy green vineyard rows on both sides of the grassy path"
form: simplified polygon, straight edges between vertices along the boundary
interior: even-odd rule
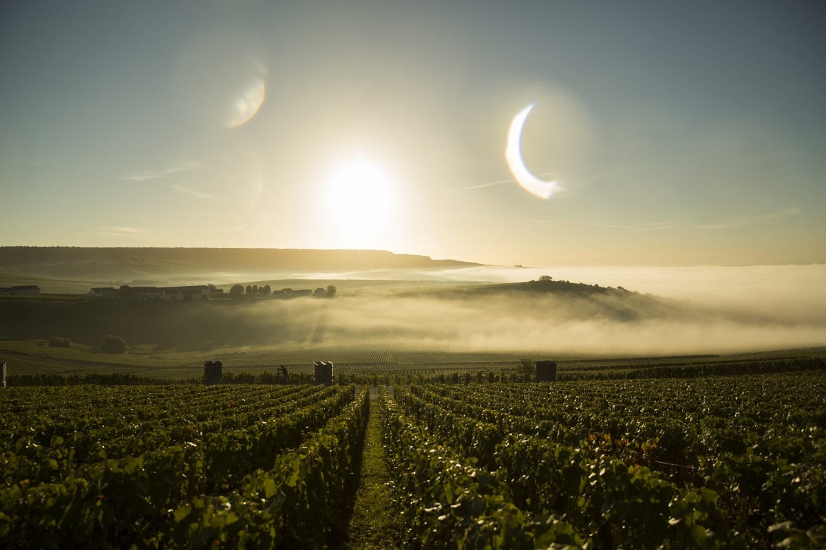
[[[826,373],[3,388],[3,548],[824,548]],[[779,546],[778,546],[779,545]]]

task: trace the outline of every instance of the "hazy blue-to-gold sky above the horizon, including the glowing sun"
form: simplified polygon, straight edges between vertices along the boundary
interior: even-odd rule
[[[2,2],[0,245],[824,263],[824,20],[823,2]]]

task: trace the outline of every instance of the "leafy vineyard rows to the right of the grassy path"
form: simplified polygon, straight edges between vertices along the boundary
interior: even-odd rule
[[[823,548],[826,377],[413,386],[387,448],[423,548]]]

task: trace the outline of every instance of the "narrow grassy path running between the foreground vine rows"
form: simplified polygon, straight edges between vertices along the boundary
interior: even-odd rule
[[[361,482],[356,492],[349,524],[350,550],[392,550],[399,548],[401,522],[392,511],[391,481],[382,447],[382,426],[375,407],[375,388],[370,388],[370,416],[364,437]]]

